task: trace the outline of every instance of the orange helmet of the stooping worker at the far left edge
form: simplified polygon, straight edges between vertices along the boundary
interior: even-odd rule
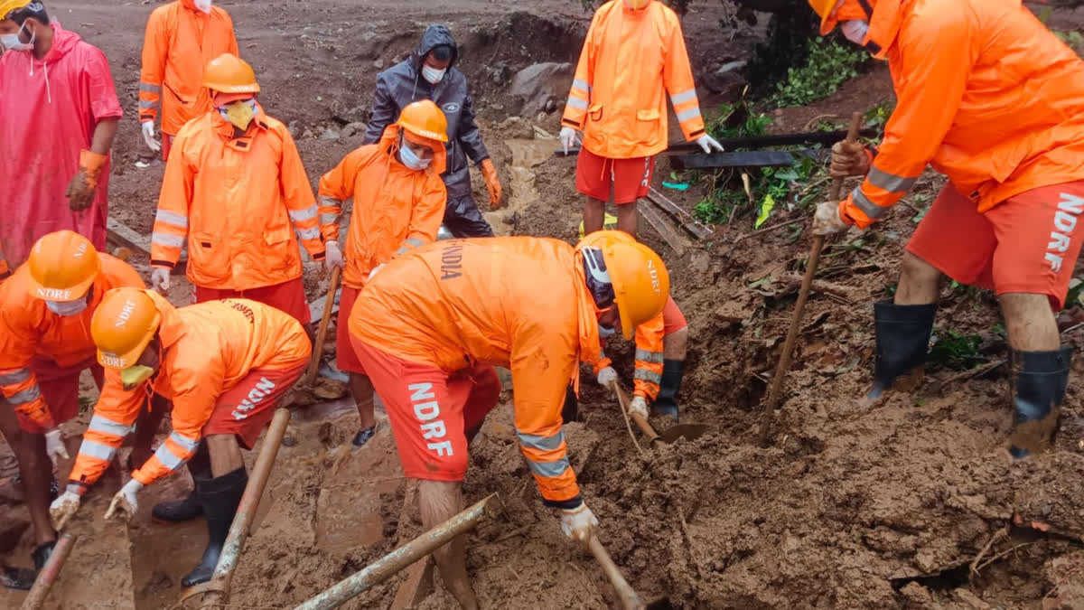
[[[75,231],[43,236],[30,249],[30,296],[42,301],[76,301],[86,296],[102,270],[90,240]]]

